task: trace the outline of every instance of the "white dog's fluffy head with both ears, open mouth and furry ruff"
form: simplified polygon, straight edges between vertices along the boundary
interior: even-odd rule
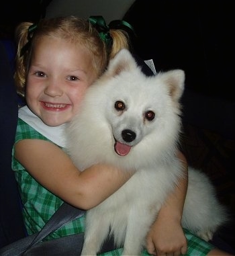
[[[144,155],[148,161],[150,151],[164,155],[172,150],[180,130],[179,99],[184,79],[181,70],[146,77],[130,52],[121,50],[88,89],[76,118],[83,133],[86,129],[83,137],[92,140],[87,151],[96,152],[99,159],[104,151],[109,159],[128,161]],[[79,143],[88,144],[85,138]]]

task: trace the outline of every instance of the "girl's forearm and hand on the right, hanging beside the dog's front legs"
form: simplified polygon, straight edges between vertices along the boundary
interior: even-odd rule
[[[178,157],[183,164],[185,177],[179,180],[179,185],[167,198],[167,202],[160,209],[156,221],[148,232],[146,247],[152,255],[187,253],[187,239],[181,227],[183,205],[187,193],[187,160],[179,152]]]

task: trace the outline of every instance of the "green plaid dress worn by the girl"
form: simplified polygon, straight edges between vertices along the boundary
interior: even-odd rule
[[[45,136],[37,132],[30,125],[26,124],[20,118],[18,119],[17,131],[15,136],[15,142],[23,139],[40,139],[48,140]],[[13,148],[14,153],[14,148]],[[12,158],[12,168],[15,171],[15,178],[19,185],[19,191],[21,194],[21,200],[23,204],[23,219],[26,225],[28,234],[34,234],[42,229],[44,224],[50,219],[52,214],[62,204],[62,200],[54,196],[50,191],[46,190],[40,185],[27,171],[26,169]],[[77,218],[72,222],[65,224],[56,232],[47,237],[47,240],[58,237],[64,237],[68,234],[75,234],[84,232],[85,230],[85,217]],[[212,248],[209,243],[195,237],[188,230],[185,230],[185,235],[188,241],[187,255],[203,256],[206,255]],[[101,255],[122,255],[122,249],[103,253]],[[146,250],[142,252],[142,255],[149,255]]]

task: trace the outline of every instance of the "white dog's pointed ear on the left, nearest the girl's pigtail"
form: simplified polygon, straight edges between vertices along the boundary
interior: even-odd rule
[[[119,75],[123,71],[131,71],[132,69],[136,68],[136,60],[130,51],[127,49],[122,49],[109,61],[106,75],[111,75],[113,77],[115,75]]]

